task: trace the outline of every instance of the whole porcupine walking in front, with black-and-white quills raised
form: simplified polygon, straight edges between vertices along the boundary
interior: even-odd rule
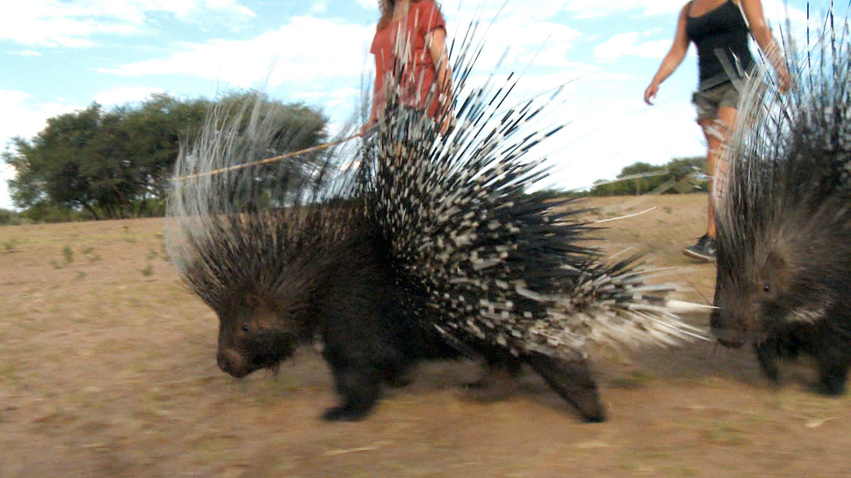
[[[357,419],[380,383],[403,384],[417,361],[460,350],[494,367],[530,364],[600,421],[588,343],[671,344],[694,332],[660,297],[668,287],[644,285],[632,260],[606,265],[580,245],[590,227],[578,211],[524,194],[546,175],[543,160],[524,154],[559,127],[530,129],[548,99],[500,109],[514,80],[466,88],[481,48],[456,48],[460,107],[448,136],[388,82],[385,114],[359,161],[341,167],[334,158],[346,153],[328,153],[309,174],[331,178],[322,185],[264,193],[290,198],[278,208],[244,206],[258,194],[253,168],[175,187],[169,250],[218,313],[225,372],[275,367],[318,333],[343,397],[325,418]],[[273,128],[261,115],[218,128],[208,122],[179,176],[266,156]]]

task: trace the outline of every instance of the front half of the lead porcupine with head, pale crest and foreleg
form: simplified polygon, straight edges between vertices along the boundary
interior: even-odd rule
[[[181,152],[168,253],[219,316],[224,372],[242,378],[277,367],[319,335],[345,397],[325,418],[360,418],[380,382],[399,384],[420,354],[454,350],[439,339],[431,349],[419,328],[417,341],[407,339],[413,327],[353,200],[357,174],[339,162],[352,154],[338,149],[311,162],[228,170],[271,156],[279,127],[266,108],[258,98],[240,111],[212,111],[195,145]]]

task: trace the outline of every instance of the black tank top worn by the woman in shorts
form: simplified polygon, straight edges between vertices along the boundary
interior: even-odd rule
[[[728,0],[694,18],[688,15],[690,9],[691,3],[688,3],[686,34],[697,46],[700,83],[720,84],[729,79],[718,54],[725,55],[730,65],[738,60],[742,69],[748,71],[753,57],[747,44],[748,27],[739,7]]]

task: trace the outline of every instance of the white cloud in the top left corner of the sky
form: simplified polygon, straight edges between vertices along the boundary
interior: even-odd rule
[[[148,14],[186,18],[202,11],[254,15],[237,0],[27,0],[3,2],[0,39],[23,45],[87,47],[91,37],[138,34]]]

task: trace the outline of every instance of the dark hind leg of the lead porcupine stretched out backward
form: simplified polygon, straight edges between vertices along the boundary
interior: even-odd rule
[[[533,354],[528,356],[528,364],[540,373],[552,390],[576,407],[585,422],[597,423],[606,419],[588,361],[567,361]]]

